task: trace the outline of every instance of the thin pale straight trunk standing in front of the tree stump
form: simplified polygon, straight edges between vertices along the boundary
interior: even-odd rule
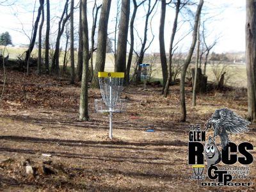
[[[196,67],[195,67],[195,78],[194,78],[194,84],[193,84],[193,93],[192,93],[192,106],[196,106],[196,86],[198,83],[196,83],[196,80],[198,79],[198,61],[199,61],[199,52],[200,52],[200,17],[198,21],[198,28],[197,28],[197,48],[196,48]]]

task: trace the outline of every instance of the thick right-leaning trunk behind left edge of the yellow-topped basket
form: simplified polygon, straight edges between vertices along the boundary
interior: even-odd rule
[[[99,88],[98,72],[103,72],[105,68],[110,6],[111,0],[104,0],[102,2],[99,20],[97,55],[92,79],[92,86],[96,88]]]

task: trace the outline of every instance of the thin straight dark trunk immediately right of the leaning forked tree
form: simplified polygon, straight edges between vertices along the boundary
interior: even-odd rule
[[[74,56],[74,0],[70,3],[70,61],[71,79],[70,83],[75,83],[75,56]]]

